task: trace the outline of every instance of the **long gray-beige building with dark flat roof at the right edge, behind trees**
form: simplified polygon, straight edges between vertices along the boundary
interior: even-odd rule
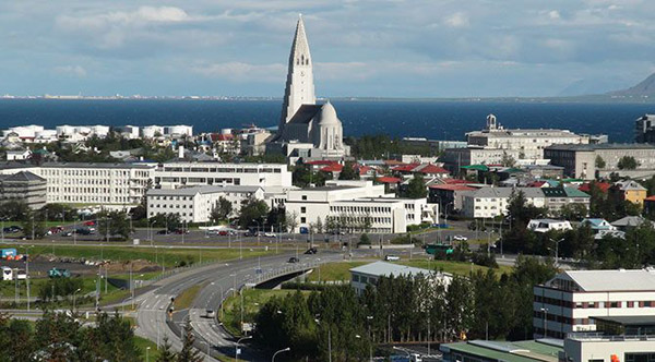
[[[636,170],[619,170],[623,156],[634,157]],[[610,172],[638,177],[655,171],[655,146],[648,144],[552,145],[544,149],[544,157],[551,165],[563,167],[564,174],[586,180]],[[605,167],[596,167],[603,164]]]

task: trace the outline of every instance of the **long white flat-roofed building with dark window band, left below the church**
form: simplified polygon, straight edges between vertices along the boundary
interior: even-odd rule
[[[200,185],[291,186],[284,164],[168,162],[155,170],[154,184],[162,189]]]

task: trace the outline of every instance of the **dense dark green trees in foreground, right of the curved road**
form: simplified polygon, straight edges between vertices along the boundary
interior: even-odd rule
[[[255,342],[289,360],[360,360],[379,343],[462,338],[525,339],[533,333],[533,287],[552,278],[551,261],[520,256],[513,270],[492,269],[449,285],[430,276],[381,277],[358,297],[349,286],[325,286],[272,298],[255,316]]]

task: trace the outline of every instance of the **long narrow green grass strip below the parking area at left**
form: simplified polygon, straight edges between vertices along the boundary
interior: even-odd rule
[[[207,261],[228,261],[239,258],[238,249],[182,249],[182,248],[166,248],[166,246],[128,246],[128,245],[111,245],[92,246],[92,245],[47,245],[34,244],[25,241],[13,244],[2,244],[2,248],[16,248],[19,253],[29,253],[33,257],[37,255],[67,256],[87,260],[110,260],[116,262],[146,260],[152,263],[166,267],[178,266],[180,262],[186,264],[198,263],[201,260]],[[273,251],[243,249],[243,257],[264,256],[273,254]]]

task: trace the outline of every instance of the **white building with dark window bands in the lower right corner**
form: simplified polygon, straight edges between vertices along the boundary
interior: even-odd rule
[[[655,269],[563,272],[534,297],[535,336],[561,339],[596,330],[595,316],[655,316]]]

